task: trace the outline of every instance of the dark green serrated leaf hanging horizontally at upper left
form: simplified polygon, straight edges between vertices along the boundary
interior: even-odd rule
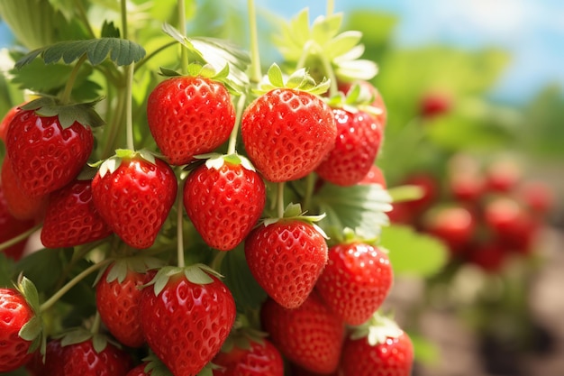
[[[145,57],[145,50],[140,44],[120,38],[98,38],[85,41],[59,41],[48,47],[32,50],[15,63],[20,69],[31,63],[37,57],[42,57],[45,64],[62,60],[71,64],[86,54],[86,59],[92,65],[101,64],[108,57],[117,66],[130,65]]]

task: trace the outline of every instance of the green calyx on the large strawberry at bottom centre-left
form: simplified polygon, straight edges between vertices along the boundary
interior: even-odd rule
[[[216,278],[223,278],[223,275],[203,263],[196,263],[186,267],[165,266],[160,268],[155,277],[143,287],[153,286],[155,296],[158,296],[165,289],[171,278],[182,275],[186,280],[198,285],[213,283],[214,279],[211,275]]]

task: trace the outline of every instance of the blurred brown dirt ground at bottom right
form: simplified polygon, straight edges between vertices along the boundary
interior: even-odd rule
[[[541,245],[541,266],[526,297],[532,321],[543,329],[535,332],[533,348],[523,352],[511,343],[485,342],[450,307],[425,307],[417,323],[396,315],[401,325],[416,325],[437,349],[437,362],[418,362],[414,376],[564,376],[564,232],[547,230]],[[389,304],[402,313],[422,296],[421,281],[400,278]]]

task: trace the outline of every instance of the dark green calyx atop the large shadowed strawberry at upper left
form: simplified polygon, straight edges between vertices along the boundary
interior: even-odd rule
[[[52,96],[41,96],[22,106],[23,110],[32,110],[39,116],[58,116],[59,124],[63,129],[68,128],[77,122],[86,127],[98,127],[105,124],[105,121],[98,115],[94,106],[102,98],[88,103],[63,105],[59,100]]]

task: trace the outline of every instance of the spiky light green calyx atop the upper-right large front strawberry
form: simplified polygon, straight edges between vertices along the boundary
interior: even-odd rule
[[[267,76],[259,83],[259,87],[253,91],[260,95],[276,88],[289,88],[321,95],[329,89],[330,85],[330,80],[326,78],[317,83],[306,69],[298,69],[290,76],[285,77],[277,63],[273,63],[268,69]]]

